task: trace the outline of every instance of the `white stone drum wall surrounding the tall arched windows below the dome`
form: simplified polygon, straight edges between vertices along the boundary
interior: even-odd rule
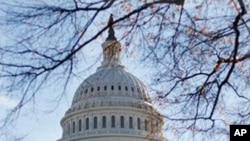
[[[106,116],[106,128],[102,127],[102,117]],[[111,127],[111,117],[115,116],[115,128]],[[124,128],[120,127],[120,117],[124,116]],[[94,117],[97,117],[97,128],[94,129]],[[129,117],[133,119],[133,128],[129,128]],[[86,129],[86,118],[89,119],[89,129]],[[140,129],[138,129],[137,119],[140,118]],[[81,119],[81,131],[79,131],[79,120]],[[144,121],[148,121],[148,130],[145,130]],[[158,122],[156,127],[155,122]],[[73,123],[75,123],[75,129],[73,129]],[[153,123],[153,125],[151,125]],[[81,112],[72,113],[66,115],[61,122],[63,127],[63,138],[60,141],[67,141],[68,139],[88,139],[99,136],[125,136],[129,138],[135,138],[142,140],[143,138],[156,138],[158,141],[162,140],[161,128],[163,125],[162,119],[157,117],[156,114],[149,113],[145,110],[133,109],[133,108],[100,108],[93,110],[84,110]],[[70,127],[70,131],[68,131]],[[152,129],[153,127],[154,129]],[[153,132],[152,132],[153,130]],[[73,133],[73,131],[75,131]],[[94,137],[93,137],[94,136]],[[134,137],[133,137],[134,136]],[[80,140],[79,140],[80,141]],[[130,141],[130,140],[129,140]]]

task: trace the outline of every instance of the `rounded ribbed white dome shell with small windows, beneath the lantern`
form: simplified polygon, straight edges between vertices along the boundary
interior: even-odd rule
[[[72,105],[86,101],[117,100],[149,102],[144,84],[122,68],[101,69],[88,77],[78,87]]]

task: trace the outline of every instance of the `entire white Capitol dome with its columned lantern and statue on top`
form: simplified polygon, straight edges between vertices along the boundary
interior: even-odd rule
[[[58,141],[163,141],[163,118],[145,85],[121,64],[121,45],[109,26],[103,62],[76,90]]]

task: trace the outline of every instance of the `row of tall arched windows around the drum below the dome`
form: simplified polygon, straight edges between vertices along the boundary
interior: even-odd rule
[[[98,121],[100,118],[100,122]],[[118,120],[118,121],[116,121]],[[144,123],[143,123],[144,122]],[[100,124],[99,124],[100,123]],[[119,123],[119,125],[117,125]],[[155,124],[153,124],[155,123]],[[144,130],[149,131],[152,130],[153,132],[158,132],[159,127],[161,126],[159,120],[149,121],[148,119],[141,119],[141,117],[134,117],[133,115],[120,115],[118,119],[116,119],[116,115],[112,115],[110,117],[111,128],[115,128],[116,130]],[[73,120],[67,122],[64,125],[64,133],[67,135],[79,133],[82,131],[91,131],[91,130],[106,130],[108,125],[107,122],[107,115],[95,115],[93,117],[86,117],[85,123],[83,125],[82,119]],[[110,128],[108,128],[109,130]]]

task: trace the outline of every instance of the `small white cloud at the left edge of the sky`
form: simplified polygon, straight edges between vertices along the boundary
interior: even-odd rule
[[[0,95],[0,108],[14,108],[17,104],[17,101],[7,97],[5,95]]]

